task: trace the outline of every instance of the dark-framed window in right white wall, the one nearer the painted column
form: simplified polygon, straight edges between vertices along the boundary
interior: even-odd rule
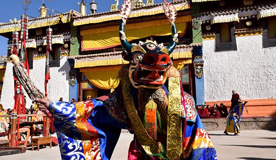
[[[234,22],[216,25],[216,51],[227,50],[237,50]]]

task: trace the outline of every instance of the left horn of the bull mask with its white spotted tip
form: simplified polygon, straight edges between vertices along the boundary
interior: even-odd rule
[[[127,53],[131,52],[131,48],[133,47],[133,45],[131,45],[125,36],[124,33],[124,26],[126,23],[126,19],[128,18],[128,16],[130,15],[132,10],[132,2],[131,0],[124,0],[122,5],[121,5],[121,9],[120,9],[120,14],[121,14],[121,23],[120,23],[120,28],[119,28],[119,36],[120,36],[120,41],[122,44],[122,47],[127,51]]]

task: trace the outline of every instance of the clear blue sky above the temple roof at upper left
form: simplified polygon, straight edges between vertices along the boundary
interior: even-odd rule
[[[57,10],[59,12],[67,12],[70,9],[79,11],[78,2],[81,0],[44,0],[46,6],[50,9]],[[84,0],[85,1],[85,0]],[[92,0],[87,0],[87,13],[89,13],[89,3]],[[123,0],[119,0],[119,5]],[[144,2],[146,0],[143,0]],[[163,0],[155,0],[155,3],[160,3]],[[98,3],[97,12],[107,11],[110,8],[110,4],[115,3],[115,0],[95,0]],[[34,17],[39,16],[39,7],[42,5],[42,0],[32,0],[29,5],[29,9],[26,14]],[[24,13],[22,0],[1,0],[0,6],[0,22],[9,22],[10,19],[21,18],[21,14]],[[7,54],[7,38],[0,36],[0,55]]]

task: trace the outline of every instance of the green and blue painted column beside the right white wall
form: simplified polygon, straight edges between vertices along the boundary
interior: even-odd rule
[[[201,19],[200,19],[200,4],[192,3],[192,30],[193,30],[193,55],[195,67],[195,85],[196,85],[196,105],[204,105],[205,103],[205,84],[202,59],[202,36],[201,36]]]

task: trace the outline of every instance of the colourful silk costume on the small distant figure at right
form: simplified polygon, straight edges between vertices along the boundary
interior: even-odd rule
[[[229,115],[227,118],[227,126],[225,128],[226,132],[232,132],[235,134],[240,132],[239,122],[241,121],[243,108],[246,102],[239,103],[232,110],[229,111]]]

